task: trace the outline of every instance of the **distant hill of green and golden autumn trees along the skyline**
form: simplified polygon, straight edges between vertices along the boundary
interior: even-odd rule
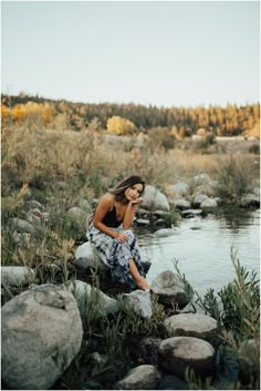
[[[39,95],[1,95],[2,117],[13,116],[23,121],[30,113],[40,113],[45,126],[55,120],[66,122],[75,131],[83,128],[105,130],[113,116],[129,120],[137,132],[146,133],[152,128],[168,128],[178,134],[192,135],[199,128],[216,135],[260,136],[260,104],[226,107],[157,107],[140,104],[82,103],[65,100],[50,100]]]

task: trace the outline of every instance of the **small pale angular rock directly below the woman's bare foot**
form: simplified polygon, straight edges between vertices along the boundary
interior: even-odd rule
[[[124,294],[123,300],[127,307],[142,318],[152,318],[153,309],[149,290],[136,289],[132,294]]]

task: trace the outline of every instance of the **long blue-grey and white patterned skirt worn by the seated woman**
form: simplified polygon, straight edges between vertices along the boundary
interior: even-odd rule
[[[130,229],[123,230],[122,225],[118,228],[111,229],[118,233],[124,231],[128,239],[124,243],[119,243],[117,239],[95,228],[93,224],[90,225],[86,237],[96,249],[100,259],[111,270],[113,281],[126,284],[130,288],[135,288],[136,284],[128,271],[128,263],[133,259],[139,274],[143,277],[146,276],[142,265],[140,248]]]

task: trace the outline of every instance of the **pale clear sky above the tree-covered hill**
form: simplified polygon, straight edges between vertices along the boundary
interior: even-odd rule
[[[1,91],[83,103],[260,102],[259,1],[1,1]]]

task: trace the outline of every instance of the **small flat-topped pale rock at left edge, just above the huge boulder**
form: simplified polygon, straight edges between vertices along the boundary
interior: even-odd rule
[[[34,270],[28,266],[2,266],[1,284],[7,287],[19,287],[34,282]]]

